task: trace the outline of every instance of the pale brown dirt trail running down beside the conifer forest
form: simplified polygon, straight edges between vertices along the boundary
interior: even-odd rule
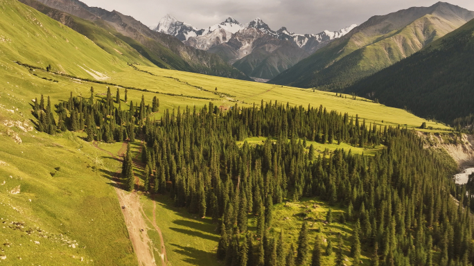
[[[94,147],[98,150],[102,150],[103,152],[107,152],[107,154],[111,155],[115,159],[121,160],[120,157],[123,157],[127,150],[127,143],[123,143],[121,149],[119,150],[119,157],[116,157],[112,152],[107,150],[103,150],[99,148],[97,143],[94,142]],[[137,155],[138,157],[138,155]],[[134,160],[135,161],[135,160]],[[134,164],[137,164],[134,162]],[[119,177],[121,169],[116,171],[116,177]],[[135,176],[135,181],[137,184],[137,188],[139,186],[139,178]],[[119,199],[120,206],[125,206],[125,209],[122,209],[123,218],[125,220],[125,225],[128,229],[128,234],[130,236],[130,241],[132,242],[133,249],[135,254],[137,254],[137,259],[139,261],[140,266],[156,266],[155,256],[153,255],[153,242],[148,237],[148,228],[146,225],[145,220],[143,217],[146,217],[145,213],[143,213],[142,206],[140,204],[139,195],[137,194],[137,190],[134,190],[132,193],[127,193],[125,190],[121,188],[115,188],[117,193],[117,198]],[[143,213],[143,215],[142,215]],[[148,219],[148,218],[147,218]],[[164,250],[164,242],[163,238],[161,237],[161,231],[153,224],[153,227],[158,231],[161,239],[161,254],[166,254],[166,250]],[[161,265],[166,266],[164,256],[161,255]]]

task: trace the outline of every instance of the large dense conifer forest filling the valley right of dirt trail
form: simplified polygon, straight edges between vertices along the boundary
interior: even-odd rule
[[[129,139],[130,132],[143,136],[146,174],[141,189],[167,194],[175,206],[211,217],[220,232],[216,256],[225,265],[322,265],[328,261],[324,256],[335,249],[330,263],[342,266],[343,242],[351,243],[352,265],[360,265],[362,251],[372,254],[371,265],[470,265],[474,261],[473,222],[463,208],[469,200],[456,205],[452,195],[459,193],[448,178],[454,169],[437,152],[424,150],[412,130],[367,125],[358,116],[324,107],[305,109],[277,102],[236,105],[228,112],[209,103],[200,110],[165,110],[156,121],[148,116],[152,107],[143,98],[143,105],[121,111],[108,95],[82,106],[90,106],[84,114],[96,122],[96,132],[123,127]],[[72,97],[71,101],[63,107],[76,110],[76,102],[83,100],[75,102]],[[95,116],[94,106],[100,116]],[[72,121],[71,116],[64,121]],[[89,130],[87,123],[85,130]],[[266,140],[250,145],[245,141],[249,136]],[[96,134],[95,138],[106,141]],[[386,148],[374,157],[350,150],[316,156],[306,140]],[[130,149],[122,172],[125,187],[132,190]],[[302,197],[318,197],[346,208],[337,222],[353,224],[351,236],[337,236],[333,248],[329,239],[324,244],[321,233],[309,238],[306,222],[297,242],[288,243],[284,232],[272,233],[274,204]],[[249,217],[256,218],[255,231],[249,230]],[[331,212],[327,221],[333,222]]]

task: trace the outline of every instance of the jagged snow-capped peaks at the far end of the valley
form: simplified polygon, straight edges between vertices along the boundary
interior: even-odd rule
[[[198,29],[166,15],[154,30],[173,35],[187,46],[216,53],[247,76],[270,80],[355,27],[301,35],[285,27],[274,31],[260,18],[240,24],[229,17],[220,24]]]

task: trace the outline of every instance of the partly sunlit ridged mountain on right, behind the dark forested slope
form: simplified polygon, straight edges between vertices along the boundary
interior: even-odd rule
[[[474,12],[441,2],[429,8],[371,17],[271,82],[340,91],[412,55],[473,18]]]

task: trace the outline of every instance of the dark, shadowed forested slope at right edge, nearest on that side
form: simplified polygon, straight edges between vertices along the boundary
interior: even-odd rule
[[[347,91],[452,124],[474,110],[474,20]]]

